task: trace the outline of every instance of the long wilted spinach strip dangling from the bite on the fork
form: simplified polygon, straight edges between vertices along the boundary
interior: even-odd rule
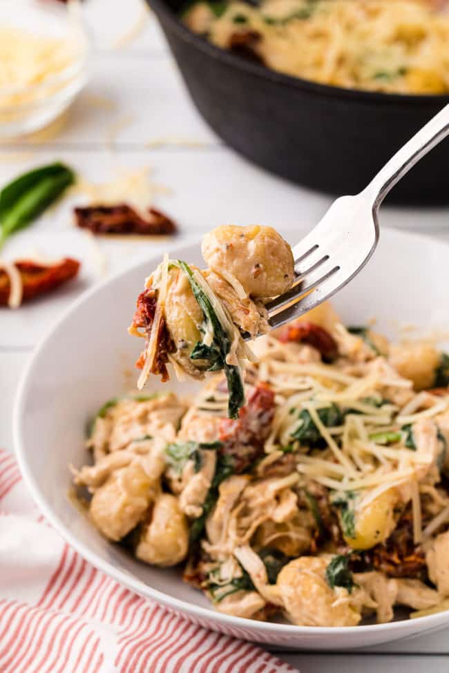
[[[245,391],[243,389],[240,370],[238,367],[235,367],[232,364],[227,364],[226,362],[226,356],[231,350],[231,340],[220,323],[220,320],[218,320],[209,298],[195,281],[190,266],[182,261],[179,261],[178,264],[189,279],[193,295],[202,310],[204,320],[207,320],[213,329],[213,343],[211,346],[206,347],[207,350],[205,350],[204,344],[195,344],[192,351],[194,355],[192,359],[198,360],[198,358],[204,357],[205,353],[209,353],[211,358],[213,358],[210,360],[211,364],[209,370],[216,371],[217,369],[223,369],[225,371],[229,391],[228,416],[229,418],[238,418],[238,410],[245,404]]]

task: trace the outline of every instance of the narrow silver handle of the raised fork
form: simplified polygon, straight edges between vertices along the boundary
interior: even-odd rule
[[[444,106],[388,161],[363,190],[377,210],[390,189],[434,146],[449,135],[449,104]]]

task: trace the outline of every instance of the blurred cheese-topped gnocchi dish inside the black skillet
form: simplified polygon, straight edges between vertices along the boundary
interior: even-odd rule
[[[435,0],[189,3],[184,23],[218,47],[344,88],[449,92],[449,13]]]

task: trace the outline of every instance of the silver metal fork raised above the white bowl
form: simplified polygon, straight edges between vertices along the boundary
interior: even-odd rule
[[[296,278],[292,289],[267,304],[271,328],[329,299],[363,269],[379,241],[383,199],[447,135],[449,105],[432,117],[360,194],[334,201],[321,222],[293,248]]]

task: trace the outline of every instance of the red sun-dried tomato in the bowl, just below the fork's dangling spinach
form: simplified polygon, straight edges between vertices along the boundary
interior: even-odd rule
[[[247,469],[263,453],[274,417],[274,392],[264,383],[258,383],[238,418],[220,421],[220,451],[235,459],[236,472]]]

